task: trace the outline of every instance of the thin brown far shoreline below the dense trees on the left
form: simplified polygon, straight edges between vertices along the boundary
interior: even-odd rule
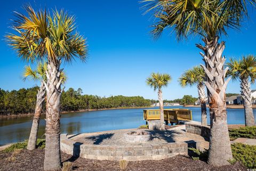
[[[85,110],[78,110],[78,111],[62,111],[60,114],[65,115],[67,113],[76,113],[76,112],[90,112],[90,111],[101,111],[101,110],[115,110],[115,109],[143,109],[143,108],[154,108],[154,107],[123,107],[123,108],[109,108],[109,109],[85,109]],[[19,115],[0,115],[0,118],[11,118],[11,117],[22,117],[22,116],[33,116],[34,113],[26,113],[26,114],[19,114]],[[45,115],[45,112],[42,113]]]

